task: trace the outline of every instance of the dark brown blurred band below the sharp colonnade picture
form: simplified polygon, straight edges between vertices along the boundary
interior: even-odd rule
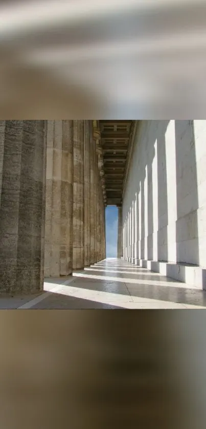
[[[205,313],[0,318],[1,427],[205,427]]]

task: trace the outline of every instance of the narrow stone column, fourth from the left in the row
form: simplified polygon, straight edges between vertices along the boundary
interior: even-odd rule
[[[90,265],[90,127],[84,121],[84,266]]]

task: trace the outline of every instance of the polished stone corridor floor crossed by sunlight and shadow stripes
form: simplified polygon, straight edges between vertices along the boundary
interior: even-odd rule
[[[0,309],[206,308],[206,291],[118,259],[45,279],[39,295],[0,297]]]

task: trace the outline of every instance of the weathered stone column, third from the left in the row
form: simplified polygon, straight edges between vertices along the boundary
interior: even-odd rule
[[[73,269],[80,269],[84,268],[84,121],[73,122]]]

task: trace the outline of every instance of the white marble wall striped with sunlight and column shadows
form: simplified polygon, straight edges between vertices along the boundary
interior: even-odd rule
[[[206,266],[206,120],[140,121],[123,198],[124,258]]]

